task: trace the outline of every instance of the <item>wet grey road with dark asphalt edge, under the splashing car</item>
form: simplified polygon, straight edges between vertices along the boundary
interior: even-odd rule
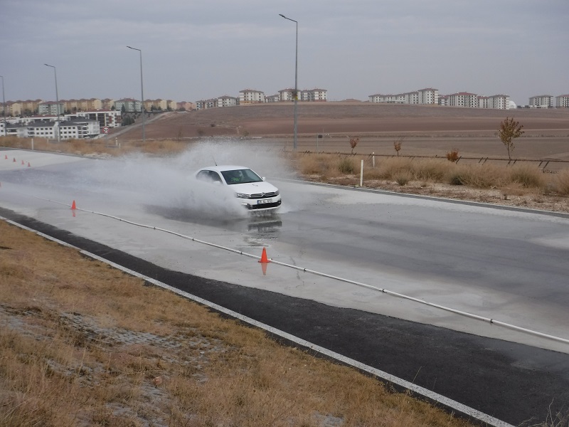
[[[565,342],[378,290],[567,339],[566,216],[280,181],[282,213],[243,218],[203,203],[207,192],[178,179],[184,162],[9,156],[6,218],[503,421],[569,408]],[[37,166],[20,167],[23,157]],[[263,275],[239,254],[263,247],[286,265]]]

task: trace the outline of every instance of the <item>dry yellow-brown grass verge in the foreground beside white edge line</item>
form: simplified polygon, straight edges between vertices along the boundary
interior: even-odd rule
[[[5,222],[0,295],[1,426],[467,425]]]

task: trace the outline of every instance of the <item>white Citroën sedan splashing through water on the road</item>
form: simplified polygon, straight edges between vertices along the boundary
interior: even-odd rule
[[[250,211],[275,211],[281,204],[279,189],[248,167],[204,167],[196,172],[196,179],[228,186]]]

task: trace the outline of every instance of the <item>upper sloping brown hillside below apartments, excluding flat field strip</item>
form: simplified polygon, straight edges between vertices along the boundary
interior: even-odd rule
[[[299,103],[299,137],[318,133],[381,135],[433,133],[452,135],[496,132],[506,117],[516,117],[529,134],[569,135],[569,109],[482,110],[477,108],[391,105],[368,102]],[[198,136],[290,136],[293,133],[292,103],[240,105],[193,112],[166,113],[148,123],[149,139],[186,139]],[[139,139],[134,127],[124,139]]]

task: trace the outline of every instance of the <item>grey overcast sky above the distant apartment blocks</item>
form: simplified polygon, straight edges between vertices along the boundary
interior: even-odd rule
[[[569,93],[569,0],[0,0],[7,100]]]

